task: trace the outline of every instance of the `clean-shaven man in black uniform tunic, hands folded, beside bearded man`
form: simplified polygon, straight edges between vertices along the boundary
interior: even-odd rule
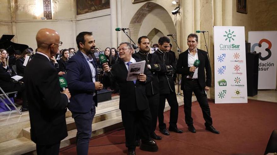
[[[169,135],[166,124],[164,123],[163,111],[165,108],[165,101],[167,99],[170,106],[170,119],[169,119],[169,131],[183,133],[182,130],[177,128],[178,120],[178,101],[175,93],[175,85],[172,75],[176,71],[175,60],[172,54],[166,52],[170,45],[170,39],[167,37],[161,37],[158,41],[159,48],[155,51],[157,56],[157,64],[153,64],[157,69],[159,78],[159,89],[160,89],[160,104],[158,110],[158,120],[160,132],[164,135]],[[152,67],[151,67],[152,68]]]

